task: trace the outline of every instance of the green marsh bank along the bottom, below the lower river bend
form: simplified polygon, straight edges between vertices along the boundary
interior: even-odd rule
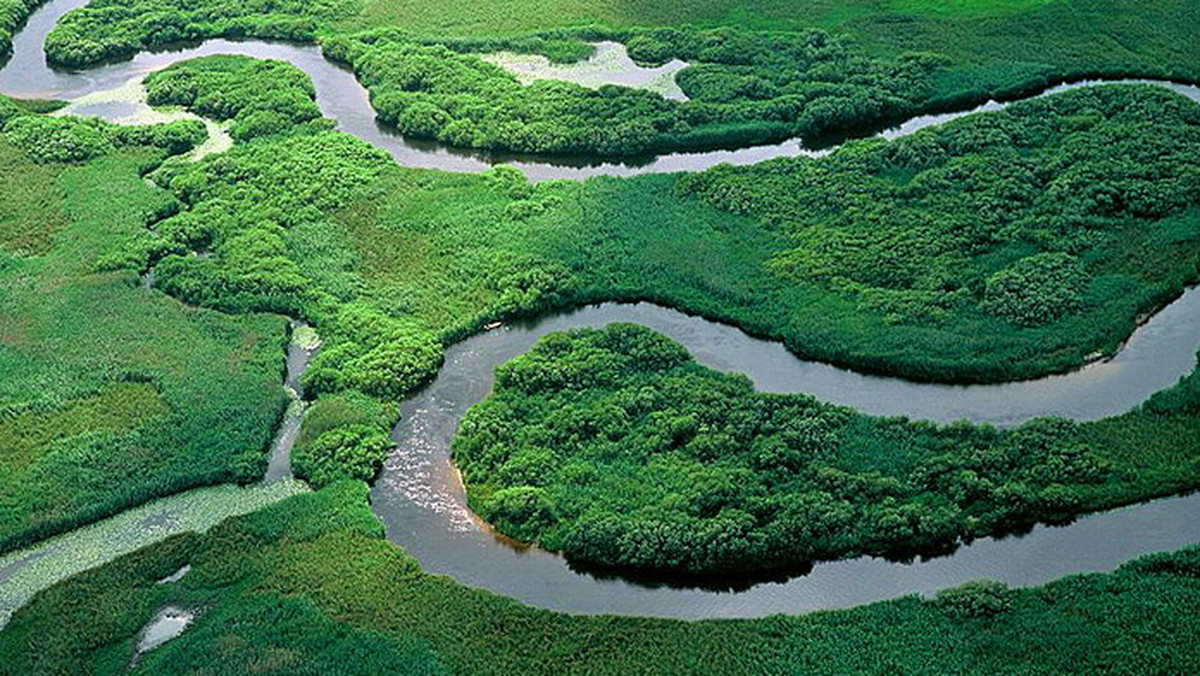
[[[1200,666],[1200,550],[1032,590],[973,584],[845,611],[684,622],[522,606],[420,572],[361,484],[172,538],[40,593],[0,674],[124,672],[163,605],[203,610],[152,674],[1169,674]],[[185,563],[182,580],[158,585]]]

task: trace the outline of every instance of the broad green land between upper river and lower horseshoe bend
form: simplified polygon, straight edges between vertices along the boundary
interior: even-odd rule
[[[158,283],[313,319],[314,391],[396,397],[439,343],[594,300],[866,371],[1034,377],[1115,349],[1196,279],[1198,110],[1098,88],[818,160],[538,186],[396,168],[332,132],[263,138],[160,171],[188,209],[157,227]]]

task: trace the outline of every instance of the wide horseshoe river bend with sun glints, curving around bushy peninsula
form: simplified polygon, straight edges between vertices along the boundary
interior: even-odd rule
[[[928,561],[859,557],[818,563],[791,579],[743,578],[718,581],[724,588],[704,588],[685,578],[596,576],[576,570],[557,554],[494,534],[467,507],[450,444],[467,408],[491,391],[497,365],[524,353],[548,333],[611,322],[632,322],[662,333],[684,345],[698,363],[743,372],[761,390],[811,394],[820,389],[821,399],[869,413],[918,412],[914,417],[1003,425],[1044,414],[1040,407],[1050,406],[1067,417],[1096,419],[1136,406],[1145,399],[1139,388],[1148,388],[1148,396],[1174,384],[1180,373],[1168,369],[1140,383],[1115,384],[1139,367],[1165,366],[1175,361],[1168,357],[1175,352],[1180,355],[1175,369],[1182,373],[1195,365],[1200,289],[1168,310],[1135,331],[1126,349],[1109,361],[1003,385],[917,384],[805,363],[779,343],[644,303],[548,315],[476,334],[446,349],[437,378],[401,407],[392,432],[397,448],[372,487],[371,508],[388,539],[414,556],[422,569],[528,605],[575,614],[761,617],[932,593],[982,578],[1034,586],[1073,573],[1112,570],[1136,556],[1200,540],[1200,495],[1092,514],[1067,526],[1037,526],[1022,537],[984,538]],[[1156,378],[1162,387],[1153,384]],[[995,408],[1000,402],[1008,406]]]

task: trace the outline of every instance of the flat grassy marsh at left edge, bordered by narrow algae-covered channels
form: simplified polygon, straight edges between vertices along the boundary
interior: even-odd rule
[[[283,322],[138,279],[146,226],[180,207],[142,173],[203,137],[34,115],[0,133],[0,552],[262,474]]]

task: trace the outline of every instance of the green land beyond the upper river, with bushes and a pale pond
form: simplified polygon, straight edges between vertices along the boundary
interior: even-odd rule
[[[979,2],[947,11],[944,2],[881,7],[859,0],[836,13],[817,4],[808,10],[823,19],[815,22],[797,20],[805,12],[794,7],[746,14],[743,2],[730,0],[672,7],[668,20],[641,5],[590,8],[564,20],[576,12],[546,0],[475,16],[487,4],[449,13],[431,7],[424,20],[394,23],[374,12],[395,4],[379,1],[197,7],[96,0],[67,14],[46,49],[53,62],[83,66],[208,37],[318,40],[326,56],[350,64],[371,88],[379,118],[408,136],[488,150],[617,156],[845,132],[1099,74],[1200,78],[1195,60],[1186,58],[1194,36],[1182,28],[1200,17],[1184,0],[1153,10],[1105,0],[1111,6],[1102,11],[1037,2],[1021,12]],[[455,16],[460,11],[467,16]],[[499,17],[527,13],[524,31],[496,30]],[[748,20],[760,13],[778,18]],[[482,17],[493,30],[472,26]],[[1153,30],[1147,19],[1157,19]],[[1073,30],[1058,30],[1063,23]],[[643,64],[689,61],[678,74],[689,101],[616,86],[522,85],[478,58],[515,50],[576,61],[589,54],[587,40],[625,42]]]

